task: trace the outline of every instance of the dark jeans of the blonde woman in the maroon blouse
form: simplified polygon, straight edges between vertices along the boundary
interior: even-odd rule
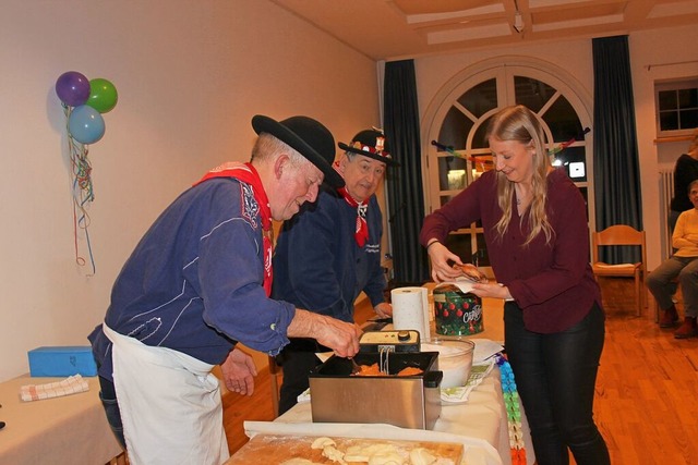
[[[531,428],[539,465],[611,463],[593,421],[593,395],[605,317],[597,303],[566,331],[541,334],[524,328],[521,309],[504,307],[505,347]]]

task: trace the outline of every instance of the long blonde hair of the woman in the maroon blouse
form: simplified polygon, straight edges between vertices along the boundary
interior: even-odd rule
[[[543,136],[543,129],[540,121],[531,110],[522,105],[507,107],[492,117],[485,137],[488,140],[490,137],[500,140],[517,140],[535,148],[533,155],[533,178],[531,180],[533,198],[526,213],[531,225],[531,231],[528,237],[526,237],[524,245],[529,244],[541,232],[545,234],[545,243],[550,244],[554,231],[545,213],[545,205],[547,201],[547,183],[545,179],[551,169],[551,162],[547,150],[545,149],[545,137]],[[498,172],[497,201],[500,208],[504,211],[504,215],[502,215],[502,218],[496,224],[500,238],[504,237],[514,215],[515,205],[513,205],[514,203],[512,201],[513,196],[514,183],[507,180],[504,173]],[[524,220],[524,217],[521,217],[521,220]]]

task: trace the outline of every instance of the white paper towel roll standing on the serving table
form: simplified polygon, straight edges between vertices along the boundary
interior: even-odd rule
[[[431,338],[429,328],[429,293],[426,287],[397,287],[390,291],[393,327],[419,331],[420,340]]]

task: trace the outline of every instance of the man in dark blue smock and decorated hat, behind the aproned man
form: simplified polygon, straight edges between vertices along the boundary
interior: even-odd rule
[[[381,318],[393,315],[385,302],[381,267],[383,217],[375,191],[386,164],[397,166],[383,133],[361,131],[334,163],[346,187],[323,186],[308,212],[284,223],[274,256],[274,298],[353,322],[353,304],[365,292]],[[291,339],[277,357],[284,369],[279,415],[309,387],[309,372],[326,348],[312,339]]]

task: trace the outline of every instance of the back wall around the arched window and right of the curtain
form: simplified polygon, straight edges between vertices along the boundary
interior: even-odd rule
[[[655,144],[654,82],[698,76],[698,29],[694,26],[646,30],[629,36],[630,63],[635,95],[642,217],[647,231],[648,266],[661,261],[659,166],[673,166],[688,143]],[[544,45],[496,48],[467,53],[443,54],[416,60],[419,105],[422,117],[438,90],[464,69],[483,60],[503,56],[534,57],[573,74],[589,96],[593,96],[591,39]],[[648,71],[648,65],[652,65]],[[592,102],[589,108],[593,108]],[[592,127],[593,131],[593,127]],[[602,199],[597,199],[597,203]]]

